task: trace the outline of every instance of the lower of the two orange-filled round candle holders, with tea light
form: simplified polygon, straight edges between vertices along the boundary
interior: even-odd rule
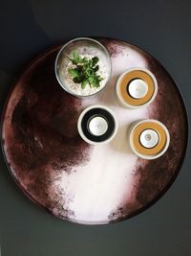
[[[128,130],[129,146],[140,158],[156,159],[167,151],[170,143],[168,129],[159,121],[138,121]]]

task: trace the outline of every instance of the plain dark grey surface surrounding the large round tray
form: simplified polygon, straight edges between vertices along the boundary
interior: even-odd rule
[[[109,36],[158,58],[191,109],[191,1],[0,2],[0,111],[16,76],[62,40]],[[172,113],[173,115],[173,113]],[[0,154],[1,256],[190,256],[191,170],[188,151],[176,181],[151,208],[128,221],[85,226],[58,220],[14,184]]]

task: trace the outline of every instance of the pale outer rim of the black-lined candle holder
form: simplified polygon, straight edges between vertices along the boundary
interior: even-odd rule
[[[102,142],[95,142],[95,141],[92,141],[92,140],[89,140],[83,133],[83,130],[81,128],[81,121],[84,117],[84,115],[91,109],[93,108],[103,108],[105,110],[107,110],[114,118],[114,121],[115,121],[115,129],[114,129],[114,132],[113,134],[107,139],[107,140],[104,140]],[[90,105],[88,107],[86,107],[84,110],[82,110],[82,112],[80,113],[79,117],[78,117],[78,120],[77,120],[77,130],[79,132],[79,135],[80,137],[85,141],[87,142],[88,144],[90,145],[103,145],[103,144],[107,144],[109,143],[110,141],[112,141],[116,135],[117,135],[117,130],[118,130],[118,122],[117,122],[117,116],[114,112],[113,109],[111,109],[110,107],[106,106],[106,105]]]

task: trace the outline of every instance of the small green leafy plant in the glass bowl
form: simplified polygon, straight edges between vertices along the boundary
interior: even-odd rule
[[[69,57],[68,57],[69,58]],[[69,69],[69,73],[73,77],[75,83],[81,83],[81,88],[84,89],[89,83],[90,86],[98,88],[100,81],[103,80],[96,72],[99,70],[97,62],[98,57],[81,58],[76,51],[73,52],[72,58],[69,58],[75,65],[74,68]]]

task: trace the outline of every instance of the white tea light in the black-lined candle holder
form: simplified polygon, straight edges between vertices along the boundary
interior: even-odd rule
[[[89,129],[93,135],[101,136],[107,131],[108,123],[103,117],[96,116],[91,119]]]

